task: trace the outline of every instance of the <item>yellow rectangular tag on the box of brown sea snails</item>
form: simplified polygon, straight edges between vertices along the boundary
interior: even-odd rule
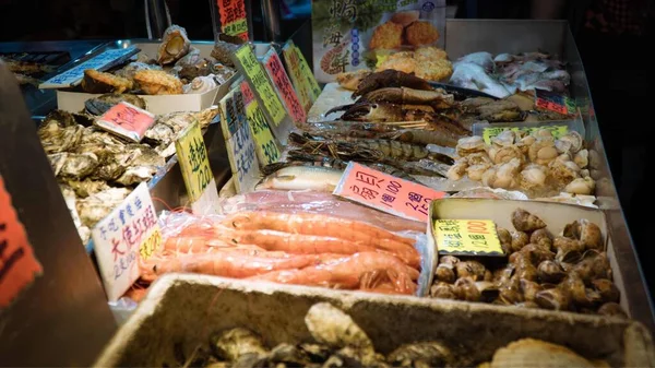
[[[504,256],[489,219],[436,219],[434,237],[439,254]]]

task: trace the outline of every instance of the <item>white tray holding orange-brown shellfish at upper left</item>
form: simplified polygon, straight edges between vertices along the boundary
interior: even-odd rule
[[[191,43],[191,45],[200,50],[202,57],[210,57],[213,49],[213,44],[207,43]],[[143,41],[134,43],[132,46],[141,49],[142,54],[148,56],[157,55],[159,43]],[[231,84],[239,79],[240,74],[236,73],[226,83],[218,87],[204,93],[183,94],[183,95],[140,95],[147,105],[147,110],[155,115],[164,115],[176,111],[200,111],[215,105],[230,90]],[[59,109],[78,112],[84,109],[84,102],[90,98],[98,97],[98,94],[69,92],[57,90],[57,106]]]

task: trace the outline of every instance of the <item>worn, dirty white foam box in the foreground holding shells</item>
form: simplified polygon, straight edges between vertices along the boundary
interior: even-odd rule
[[[436,340],[481,363],[512,341],[534,337],[611,366],[655,365],[650,333],[629,320],[170,274],[152,286],[95,366],[162,367],[236,327],[258,331],[270,346],[310,342],[303,318],[320,301],[352,316],[383,354]]]

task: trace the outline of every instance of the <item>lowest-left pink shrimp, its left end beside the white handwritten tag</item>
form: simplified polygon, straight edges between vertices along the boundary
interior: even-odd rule
[[[243,278],[276,270],[301,269],[334,261],[336,254],[267,254],[250,256],[242,251],[221,251],[211,254],[153,257],[141,262],[141,277],[154,281],[170,272],[192,272],[216,276]]]

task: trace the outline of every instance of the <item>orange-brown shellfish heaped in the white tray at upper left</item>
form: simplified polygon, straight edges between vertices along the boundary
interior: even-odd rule
[[[213,58],[204,58],[191,46],[187,31],[171,25],[162,38],[155,59],[140,54],[136,61],[108,72],[84,71],[82,90],[87,93],[176,95],[204,93],[226,83],[236,71]]]

